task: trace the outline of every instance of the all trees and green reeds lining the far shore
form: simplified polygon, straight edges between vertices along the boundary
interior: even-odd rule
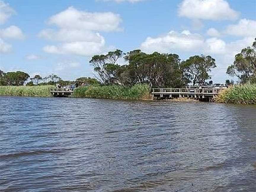
[[[127,61],[126,65],[117,63],[121,57]],[[217,67],[215,59],[209,55],[195,55],[182,61],[177,54],[148,54],[141,50],[124,53],[119,49],[106,55],[94,55],[89,63],[94,68],[95,78],[80,77],[75,81],[63,81],[55,74],[43,78],[40,75],[30,77],[22,71],[5,73],[0,70],[0,95],[50,97],[50,89],[56,85],[72,84],[68,87],[77,87],[72,89],[72,97],[145,100],[152,98],[152,88],[211,86],[210,72]],[[215,100],[256,104],[256,39],[252,47],[242,49],[235,56],[226,73],[238,81],[235,84],[227,79],[229,88],[220,92]]]

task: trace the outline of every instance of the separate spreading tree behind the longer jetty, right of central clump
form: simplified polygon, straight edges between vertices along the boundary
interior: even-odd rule
[[[181,63],[184,75],[187,76],[193,85],[203,85],[207,79],[211,79],[209,72],[215,67],[215,59],[209,55],[195,55]]]

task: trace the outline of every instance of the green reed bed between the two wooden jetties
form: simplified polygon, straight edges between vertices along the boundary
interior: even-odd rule
[[[132,87],[120,85],[79,87],[73,97],[146,100],[151,98],[150,87],[147,84],[137,84]]]

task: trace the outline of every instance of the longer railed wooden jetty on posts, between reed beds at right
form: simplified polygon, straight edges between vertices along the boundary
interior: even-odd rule
[[[196,98],[201,100],[212,101],[213,98],[224,88],[154,88],[152,92],[153,99],[160,98]]]

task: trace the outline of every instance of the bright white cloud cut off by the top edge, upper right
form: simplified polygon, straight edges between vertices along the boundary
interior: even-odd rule
[[[190,19],[205,20],[236,20],[239,17],[239,13],[224,0],[183,0],[178,14]]]

